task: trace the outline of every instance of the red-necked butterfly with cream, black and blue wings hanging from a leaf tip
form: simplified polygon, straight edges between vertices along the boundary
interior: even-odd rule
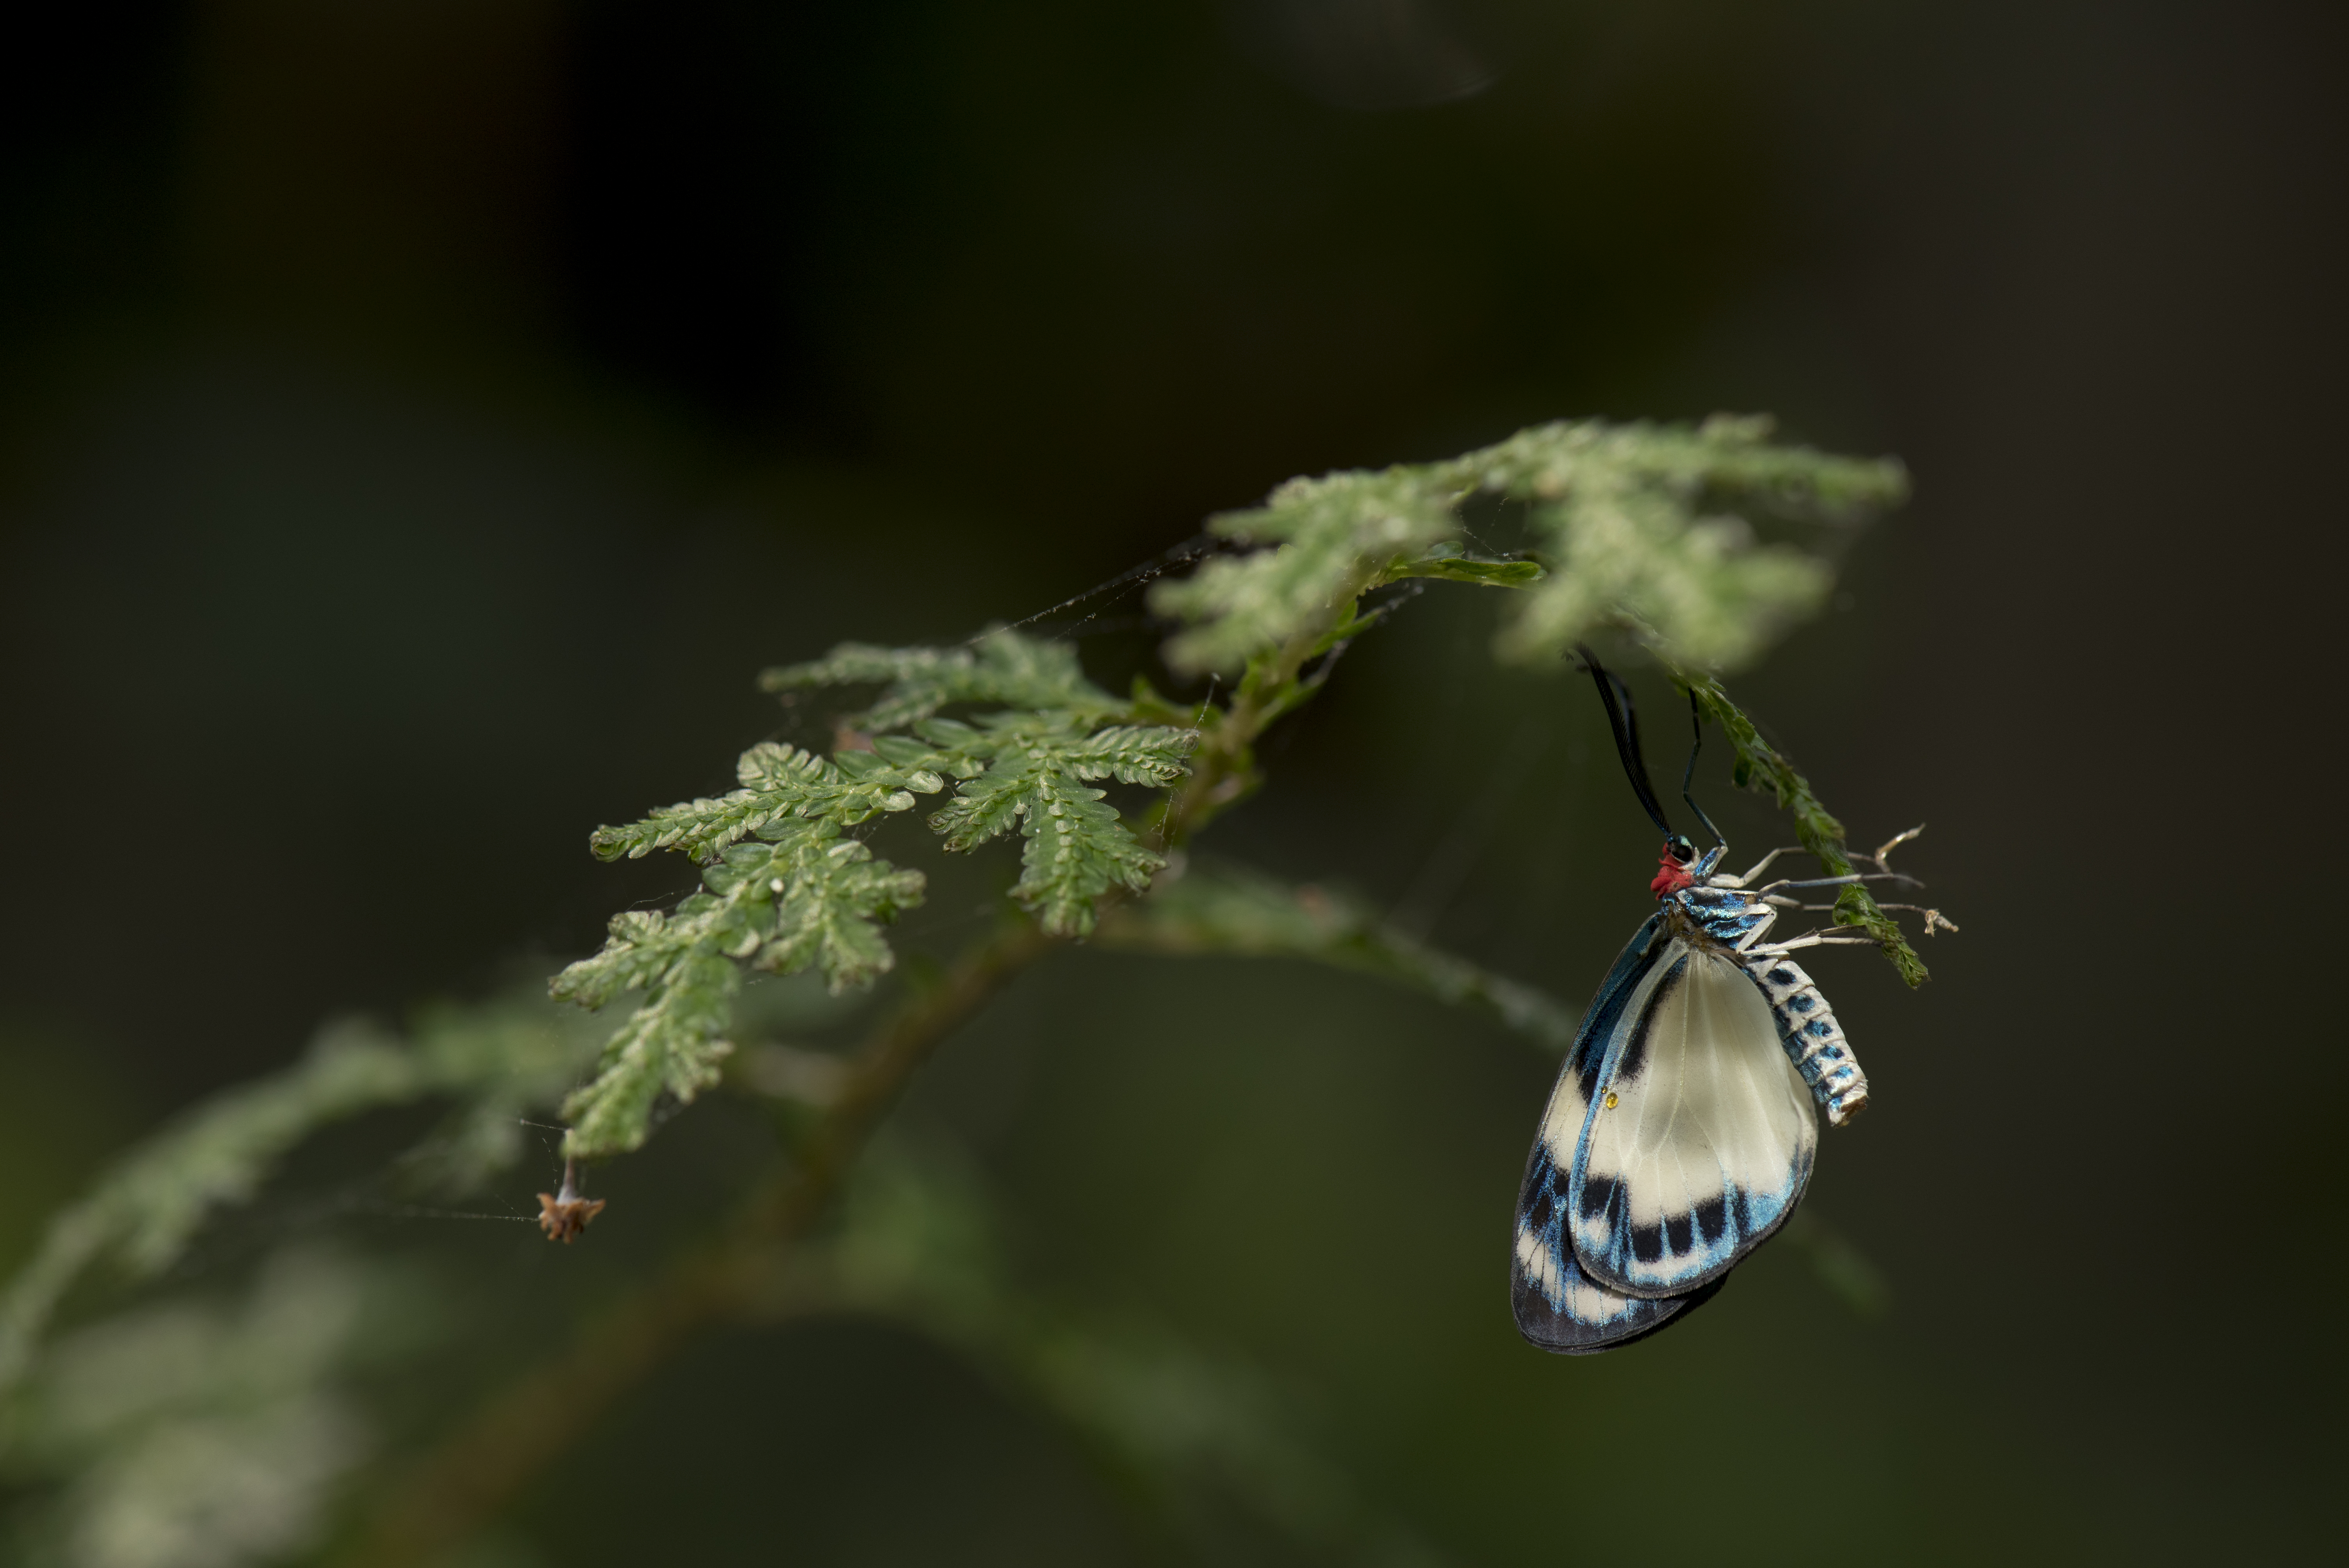
[[[1867,1075],[1792,953],[1872,939],[1830,927],[1769,941],[1771,925],[1781,908],[1802,908],[1790,890],[1912,880],[1879,871],[1759,883],[1785,850],[1722,873],[1729,845],[1689,793],[1705,739],[1694,695],[1680,796],[1715,838],[1701,854],[1656,805],[1630,690],[1581,653],[1623,772],[1665,843],[1649,883],[1661,908],[1583,1014],[1517,1188],[1517,1331],[1564,1354],[1680,1322],[1795,1214],[1818,1153],[1813,1103],[1830,1127],[1851,1122],[1867,1106]]]

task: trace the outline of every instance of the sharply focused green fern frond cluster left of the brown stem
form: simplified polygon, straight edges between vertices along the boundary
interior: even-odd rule
[[[1015,826],[1027,838],[1012,894],[1045,932],[1092,930],[1111,887],[1146,887],[1163,864],[1104,805],[1090,779],[1167,786],[1196,735],[1132,721],[1085,681],[1076,653],[998,629],[975,648],[843,643],[824,660],[770,669],[761,685],[881,681],[881,702],[853,723],[869,751],[832,758],[782,744],[742,753],[742,789],[688,800],[620,829],[597,829],[601,859],[679,850],[709,864],[669,915],[625,913],[604,951],[554,976],[552,993],[601,1007],[625,991],[644,1002],[606,1047],[587,1087],[564,1103],[566,1150],[639,1148],[662,1094],[693,1101],[716,1082],[740,965],[778,974],[817,967],[832,991],[869,986],[895,965],[881,925],[921,904],[923,878],[879,861],[841,829],[902,812],[916,793],[958,789],[930,817],[947,850],[970,850]],[[977,723],[940,716],[949,702],[1012,704]],[[888,730],[911,728],[914,735]]]

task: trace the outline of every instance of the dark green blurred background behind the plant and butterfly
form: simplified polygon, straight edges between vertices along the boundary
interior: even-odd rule
[[[1816,965],[1877,1103],[1813,1204],[1886,1319],[1778,1246],[1654,1345],[1522,1347],[1548,1063],[1320,972],[1064,955],[907,1115],[1024,1277],[1276,1371],[1459,1561],[2318,1554],[2344,45],[2337,7],[2241,0],[19,23],[0,1239],[319,1019],[681,892],[585,833],[726,784],[766,662],[1043,610],[1294,472],[1771,408],[1917,477],[1736,688],[1856,836],[1933,824],[1907,864],[1966,927],[1914,995]],[[1651,833],[1588,692],[1489,674],[1492,608],[1433,592],[1355,648],[1207,847],[1579,1000]],[[1146,648],[1085,641],[1102,678]],[[942,880],[916,946],[977,894]],[[608,1258],[691,1235],[723,1117],[608,1174]],[[552,1263],[467,1268],[493,1305]],[[1059,1434],[869,1324],[712,1343],[517,1540],[1156,1552]]]

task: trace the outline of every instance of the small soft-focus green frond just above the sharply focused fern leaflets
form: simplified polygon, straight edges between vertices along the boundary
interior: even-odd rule
[[[1010,629],[987,631],[968,648],[841,643],[820,660],[768,669],[759,676],[759,688],[787,692],[869,681],[883,681],[886,690],[874,707],[846,721],[869,735],[904,730],[949,702],[1057,711],[1078,721],[1099,721],[1125,709],[1085,678],[1073,648]]]

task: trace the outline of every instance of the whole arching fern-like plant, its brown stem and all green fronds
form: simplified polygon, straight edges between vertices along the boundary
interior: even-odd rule
[[[1475,491],[1525,502],[1546,559],[1463,554],[1459,507]],[[35,1354],[94,1265],[155,1279],[207,1218],[251,1199],[319,1129],[366,1110],[449,1103],[442,1127],[397,1164],[451,1192],[510,1167],[524,1113],[554,1099],[571,1122],[566,1157],[641,1148],[667,1108],[723,1082],[733,1035],[820,1016],[796,1002],[738,1007],[747,972],[820,974],[841,995],[895,967],[883,925],[921,906],[928,883],[879,859],[860,833],[916,796],[942,796],[928,826],[944,850],[1024,838],[1008,890],[1017,913],[954,969],[916,976],[862,1047],[836,1056],[759,1042],[735,1082],[785,1101],[782,1150],[747,1183],[740,1218],[667,1272],[655,1268],[637,1305],[590,1322],[571,1359],[517,1385],[512,1404],[458,1420],[439,1469],[420,1467],[406,1493],[378,1483],[390,1502],[350,1514],[359,1549],[373,1540],[376,1559],[406,1559],[477,1535],[538,1462],[514,1453],[559,1453],[601,1399],[698,1326],[850,1310],[904,1322],[1034,1401],[1207,1559],[1224,1552],[1212,1521],[1229,1505],[1311,1556],[1433,1561],[1290,1432],[1273,1383],[1165,1329],[1088,1322],[1015,1289],[968,1183],[902,1150],[860,1160],[864,1141],[914,1068],[1052,939],[1301,958],[1482,1009],[1562,1049],[1574,1014],[1541,991],[1442,953],[1346,894],[1196,859],[1189,840],[1261,784],[1257,742],[1381,622],[1393,599],[1365,596],[1388,584],[1520,589],[1525,610],[1499,643],[1508,657],[1546,657],[1593,629],[1668,657],[1745,657],[1818,603],[1830,568],[1792,547],[1750,549],[1745,526],[1708,507],[1743,495],[1849,523],[1898,493],[1896,467],[1776,448],[1755,420],[1550,425],[1454,462],[1292,481],[1266,507],[1221,519],[1219,533],[1245,552],[1153,594],[1177,617],[1172,667],[1238,671],[1191,709],[1139,678],[1113,699],[1069,646],[1010,627],[961,648],[848,643],[768,671],[763,685],[785,702],[824,688],[876,695],[834,721],[829,756],[761,742],[742,753],[733,793],[590,836],[606,861],[674,850],[702,866],[700,892],[669,911],[615,915],[604,951],[554,976],[554,1000],[587,1009],[639,995],[599,1052],[580,1014],[552,1021],[521,1000],[428,1014],[404,1042],[343,1026],[291,1070],[181,1117],[52,1223],[0,1303],[5,1455],[54,1493],[35,1549],[92,1568],[228,1568],[312,1547],[352,1502],[338,1488],[369,1441],[338,1376],[359,1350],[392,1343],[355,1326],[362,1300],[388,1286],[362,1284],[357,1265],[287,1253],[242,1312],[164,1296]],[[1835,852],[1835,819],[1719,683],[1675,674],[1731,730],[1741,779],[1762,770],[1797,807],[1806,843]],[[1158,798],[1128,819],[1097,782]],[[1809,1235],[1846,1296],[1882,1298],[1846,1244]],[[416,1336],[406,1350],[418,1350]],[[484,1462],[505,1479],[484,1488]]]

